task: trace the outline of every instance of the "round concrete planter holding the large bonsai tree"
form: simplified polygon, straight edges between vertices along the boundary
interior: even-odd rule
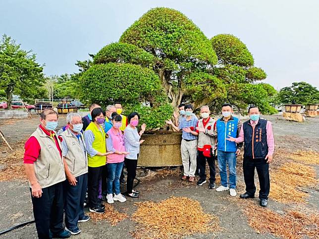
[[[164,167],[182,165],[180,153],[181,133],[160,131],[142,135],[138,166]]]

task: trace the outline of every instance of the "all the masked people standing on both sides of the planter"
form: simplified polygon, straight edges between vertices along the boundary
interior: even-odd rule
[[[174,123],[167,120],[174,131],[182,131],[181,156],[184,168],[182,180],[195,181],[198,168],[200,179],[206,181],[206,161],[210,168],[209,188],[215,188],[215,156],[221,185],[216,191],[230,191],[236,196],[236,156],[244,142],[244,180],[246,192],[241,198],[254,197],[254,172],[257,169],[261,206],[267,206],[269,193],[268,166],[272,161],[274,141],[271,123],[259,117],[259,109],[251,106],[250,120],[242,122],[232,115],[230,104],[222,105],[222,117],[214,120],[208,106],[201,107],[201,119],[193,113],[191,104],[179,105]],[[56,134],[58,114],[43,110],[40,125],[25,143],[24,165],[29,179],[33,214],[40,239],[68,238],[81,232],[78,223],[90,219],[84,213],[86,194],[89,211],[104,213],[105,205],[125,202],[120,183],[126,184],[125,195],[136,198],[133,190],[141,136],[146,125],[141,125],[137,112],[122,115],[120,102],[108,105],[104,111],[92,104],[85,117],[69,113],[66,126]],[[123,167],[127,170],[124,180]],[[227,167],[229,180],[227,180]],[[63,228],[65,212],[65,228]]]

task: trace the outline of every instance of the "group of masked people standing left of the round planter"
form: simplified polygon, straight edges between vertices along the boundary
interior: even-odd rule
[[[56,134],[58,114],[52,109],[42,111],[40,125],[25,143],[24,154],[38,238],[81,233],[78,223],[90,220],[84,213],[86,194],[89,211],[94,213],[105,212],[102,200],[125,202],[120,191],[124,165],[125,194],[139,196],[133,183],[146,125],[138,132],[139,114],[132,112],[126,117],[121,113],[119,102],[108,105],[106,112],[92,104],[83,118],[68,113],[66,126]]]

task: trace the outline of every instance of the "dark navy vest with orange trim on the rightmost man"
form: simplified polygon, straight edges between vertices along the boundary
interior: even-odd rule
[[[253,129],[250,120],[244,122],[244,157],[265,158],[268,153],[267,144],[267,120],[259,119],[258,124]]]

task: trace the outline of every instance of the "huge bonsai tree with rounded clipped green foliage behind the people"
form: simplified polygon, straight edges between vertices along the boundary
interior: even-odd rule
[[[83,64],[83,98],[102,105],[119,99],[126,108],[145,113],[153,128],[162,126],[181,102],[190,101],[195,109],[204,104],[217,109],[225,101],[246,108],[251,101],[266,105],[265,98],[273,94],[269,85],[256,84],[266,73],[254,67],[252,54],[239,39],[217,35],[209,40],[170,8],[149,10],[118,43]]]

